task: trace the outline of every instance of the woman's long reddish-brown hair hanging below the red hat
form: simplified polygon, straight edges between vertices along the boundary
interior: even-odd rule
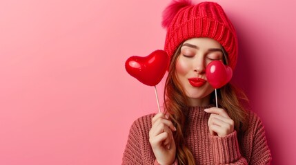
[[[177,79],[175,69],[177,59],[181,52],[181,45],[183,45],[183,43],[179,45],[175,54],[170,59],[170,67],[168,77],[166,78],[164,93],[164,108],[166,113],[170,115],[170,120],[172,120],[172,123],[177,128],[177,131],[174,133],[174,140],[176,144],[176,158],[179,164],[195,165],[193,153],[191,153],[188,146],[184,145],[186,144],[186,137],[184,137],[186,131],[186,114],[184,111],[188,110],[190,105],[186,93]],[[224,57],[227,57],[225,51]],[[224,59],[224,63],[225,61],[227,62],[227,58]],[[237,133],[243,132],[246,129],[247,113],[241,105],[241,100],[246,100],[246,102],[248,102],[248,98],[246,98],[244,92],[228,83],[224,87],[221,87],[221,89],[218,89],[217,95],[219,98],[219,107],[225,109],[230,118],[234,120]],[[215,94],[212,93],[211,98],[211,103],[215,102]]]

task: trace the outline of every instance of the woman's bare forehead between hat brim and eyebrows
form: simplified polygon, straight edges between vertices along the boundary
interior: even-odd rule
[[[206,37],[199,37],[188,39],[184,41],[184,43],[189,43],[191,45],[195,45],[201,49],[210,49],[210,48],[221,48],[221,44],[215,41],[215,39],[210,39]],[[184,45],[183,43],[183,45]]]

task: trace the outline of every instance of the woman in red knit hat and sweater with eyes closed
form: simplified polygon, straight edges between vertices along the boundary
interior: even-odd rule
[[[270,164],[264,126],[241,105],[244,93],[228,83],[213,106],[206,65],[237,63],[237,35],[221,6],[173,1],[163,25],[170,56],[165,111],[132,124],[122,164]]]

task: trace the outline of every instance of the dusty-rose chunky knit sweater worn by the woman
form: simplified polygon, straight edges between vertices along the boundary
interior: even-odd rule
[[[186,145],[196,164],[270,164],[271,154],[264,126],[259,117],[248,111],[248,129],[238,138],[234,131],[225,137],[210,135],[207,107],[192,107],[188,111]],[[122,164],[157,164],[149,143],[151,119],[145,115],[133,122]]]

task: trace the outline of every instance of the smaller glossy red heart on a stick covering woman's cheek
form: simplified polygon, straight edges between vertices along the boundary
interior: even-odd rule
[[[206,78],[215,89],[226,85],[233,76],[233,70],[221,61],[212,61],[206,66]]]

